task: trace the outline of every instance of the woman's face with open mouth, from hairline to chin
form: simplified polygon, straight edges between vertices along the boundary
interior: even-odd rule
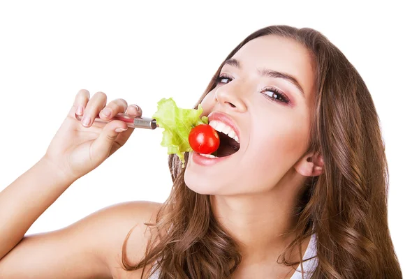
[[[309,52],[293,40],[270,35],[251,40],[232,59],[202,105],[203,115],[219,112],[235,124],[240,149],[221,160],[191,152],[184,179],[196,193],[271,190],[295,171],[307,151],[314,94]],[[301,88],[281,73],[294,77]]]

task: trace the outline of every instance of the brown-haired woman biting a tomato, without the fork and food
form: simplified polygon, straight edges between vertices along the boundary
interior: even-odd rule
[[[191,152],[185,168],[169,156],[164,204],[117,204],[24,236],[133,132],[92,123],[99,112],[141,115],[125,100],[106,102],[80,91],[45,156],[1,192],[5,278],[402,278],[372,97],[318,31],[266,27],[227,56],[198,103],[212,126],[236,131],[240,149],[215,159]]]

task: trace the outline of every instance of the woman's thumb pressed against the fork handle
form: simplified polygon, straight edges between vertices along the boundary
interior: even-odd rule
[[[99,136],[91,143],[92,156],[104,156],[107,158],[112,149],[112,145],[115,144],[119,133],[127,130],[128,126],[124,121],[110,121],[104,127]],[[119,148],[120,146],[118,146]],[[103,158],[103,160],[105,159]]]

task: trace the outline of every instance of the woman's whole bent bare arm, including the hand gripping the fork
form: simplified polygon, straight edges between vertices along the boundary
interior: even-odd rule
[[[125,111],[141,115],[135,106],[127,108],[123,99],[106,105],[106,98],[102,92],[90,98],[89,91],[79,91],[45,156],[0,193],[1,278],[109,278],[118,266],[117,246],[122,248],[129,229],[149,216],[149,207],[142,204],[136,215],[126,211],[126,206],[117,206],[58,231],[24,237],[75,180],[103,163],[133,132],[119,120],[82,125],[75,118],[78,114],[94,119],[101,113],[101,118],[112,119]],[[105,116],[104,110],[110,114]],[[135,246],[145,240],[138,237]]]

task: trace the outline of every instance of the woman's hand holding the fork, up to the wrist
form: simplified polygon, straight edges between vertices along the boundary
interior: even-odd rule
[[[54,135],[43,159],[57,166],[68,179],[79,179],[101,165],[117,151],[133,133],[124,121],[94,122],[96,116],[109,121],[119,112],[141,116],[141,108],[128,106],[123,99],[106,105],[106,94],[98,92],[90,98],[87,90],[80,90],[64,123]],[[83,116],[82,121],[75,114]]]

